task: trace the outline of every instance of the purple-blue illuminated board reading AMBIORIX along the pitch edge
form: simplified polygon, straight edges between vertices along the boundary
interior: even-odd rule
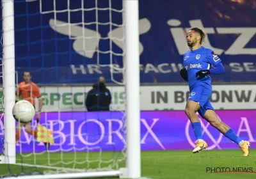
[[[250,141],[250,148],[256,148],[255,110],[225,110],[216,113],[237,136]],[[141,111],[140,116],[141,150],[193,150],[195,147],[193,128],[184,111]],[[236,143],[198,117],[202,124],[202,134],[209,145],[207,150],[239,150]],[[35,126],[35,120],[33,123]],[[51,152],[122,151],[125,148],[125,119],[120,112],[43,113],[40,123],[53,131]],[[2,138],[3,122],[0,120]],[[16,151],[44,152],[45,146],[22,128]]]

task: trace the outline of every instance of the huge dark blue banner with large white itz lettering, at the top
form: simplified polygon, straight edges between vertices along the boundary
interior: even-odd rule
[[[141,83],[184,82],[179,70],[191,27],[204,29],[203,45],[225,65],[212,81],[255,82],[255,2],[140,1]],[[92,83],[99,75],[121,81],[109,65],[123,66],[122,14],[122,1],[15,1],[19,81],[24,70],[42,84]]]

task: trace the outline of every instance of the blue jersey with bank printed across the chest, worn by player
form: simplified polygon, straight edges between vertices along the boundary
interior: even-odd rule
[[[211,50],[205,47],[200,47],[195,51],[188,51],[183,56],[183,66],[188,72],[189,89],[195,84],[202,84],[207,88],[211,88],[211,77],[196,77],[196,72],[200,70],[209,70],[211,66],[216,66],[221,62],[221,59]]]

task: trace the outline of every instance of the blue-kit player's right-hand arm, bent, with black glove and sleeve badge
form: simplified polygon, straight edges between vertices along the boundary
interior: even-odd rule
[[[206,75],[209,75],[209,74],[218,75],[225,72],[225,68],[221,62],[221,59],[213,51],[207,54],[207,61],[209,62],[209,64],[211,64],[215,68],[212,68],[209,70],[200,70],[196,72],[196,77],[198,75],[200,77],[205,77]]]

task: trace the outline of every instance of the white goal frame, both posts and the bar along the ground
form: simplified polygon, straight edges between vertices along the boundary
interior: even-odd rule
[[[86,1],[86,0],[84,0]],[[95,0],[97,1],[97,0]],[[2,0],[3,6],[3,86],[4,86],[4,164],[15,164],[15,120],[12,108],[15,104],[15,38],[14,0]],[[114,176],[119,178],[141,177],[140,149],[140,53],[138,0],[123,0],[125,26],[125,140],[126,167],[113,171],[56,173],[9,178],[95,178]],[[24,165],[25,166],[25,165]],[[0,166],[1,167],[1,166]]]

